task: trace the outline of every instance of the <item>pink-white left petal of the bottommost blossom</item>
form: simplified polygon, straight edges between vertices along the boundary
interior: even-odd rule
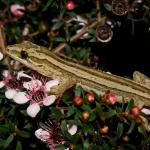
[[[43,142],[46,142],[50,138],[49,132],[42,128],[35,131],[35,136]]]

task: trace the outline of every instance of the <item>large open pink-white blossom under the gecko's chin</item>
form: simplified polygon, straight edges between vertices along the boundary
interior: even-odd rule
[[[31,81],[24,82],[23,84],[27,92],[19,92],[13,99],[17,104],[24,104],[30,101],[27,114],[30,117],[36,117],[41,106],[49,106],[55,102],[56,96],[49,96],[48,93],[51,87],[58,85],[58,83],[58,80],[48,80],[44,76],[40,78],[33,76]]]

